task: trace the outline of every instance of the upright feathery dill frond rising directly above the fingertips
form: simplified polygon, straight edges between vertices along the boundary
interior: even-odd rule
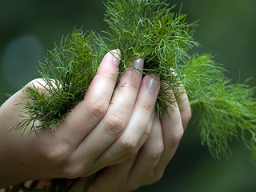
[[[142,74],[160,77],[165,89],[158,96],[158,114],[166,114],[170,104],[175,102],[168,90],[180,86],[179,77],[172,69],[185,63],[193,46],[194,23],[186,23],[186,14],[173,13],[174,6],[160,0],[114,0],[106,4],[105,21],[110,29],[104,38],[98,37],[96,44],[99,55],[108,50],[120,49],[120,78],[134,58],[145,62]],[[137,70],[137,69],[134,69]],[[161,104],[160,104],[161,103]]]

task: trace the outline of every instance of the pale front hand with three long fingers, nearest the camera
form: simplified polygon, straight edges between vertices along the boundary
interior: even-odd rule
[[[134,157],[150,134],[149,122],[160,85],[152,77],[142,80],[142,74],[128,70],[121,79],[125,86],[114,92],[117,57],[106,54],[85,99],[56,131],[46,128],[39,138],[23,130],[9,132],[22,120],[14,110],[22,110],[16,104],[26,102],[21,98],[22,90],[1,106],[0,188],[30,179],[88,176]],[[143,67],[142,59],[133,64]],[[34,83],[40,90],[38,81],[30,85]]]

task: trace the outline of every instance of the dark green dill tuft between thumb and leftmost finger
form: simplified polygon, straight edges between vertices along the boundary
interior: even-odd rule
[[[39,62],[38,74],[42,81],[38,85],[26,86],[22,122],[14,126],[15,130],[26,129],[32,123],[30,132],[56,127],[72,108],[81,102],[91,80],[96,74],[91,38],[82,30],[75,30],[62,38],[60,46],[54,43],[54,49],[48,50],[45,62]],[[40,122],[40,123],[36,123]]]

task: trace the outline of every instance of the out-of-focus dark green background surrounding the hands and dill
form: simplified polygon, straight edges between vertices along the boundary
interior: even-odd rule
[[[106,2],[106,1],[103,1]],[[256,76],[256,1],[183,0],[182,12],[188,21],[200,20],[194,38],[201,44],[194,52],[212,53],[223,63],[234,82]],[[181,1],[170,1],[171,4]],[[106,30],[102,0],[1,0],[0,6],[0,104],[21,86],[37,78],[38,59],[53,42],[74,26],[83,30]],[[256,85],[256,78],[250,81]],[[256,167],[250,151],[241,142],[231,145],[229,160],[212,158],[201,146],[197,126],[192,121],[163,178],[138,192],[253,192]]]

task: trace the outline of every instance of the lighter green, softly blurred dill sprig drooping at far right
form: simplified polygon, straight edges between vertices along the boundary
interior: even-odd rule
[[[248,86],[247,81],[233,84],[212,58],[210,54],[194,54],[180,67],[190,106],[199,110],[202,144],[214,158],[229,157],[229,142],[240,135],[256,165],[256,87]]]

